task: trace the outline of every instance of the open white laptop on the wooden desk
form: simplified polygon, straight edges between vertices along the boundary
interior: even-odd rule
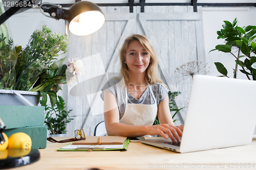
[[[141,142],[180,153],[249,144],[255,101],[256,81],[196,75],[180,146],[164,138]]]

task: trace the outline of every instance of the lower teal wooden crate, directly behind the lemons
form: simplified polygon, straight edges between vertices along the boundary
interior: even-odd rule
[[[47,126],[33,126],[25,128],[7,129],[4,133],[9,137],[14,133],[23,132],[30,136],[32,140],[32,147],[34,149],[46,148],[47,141]]]

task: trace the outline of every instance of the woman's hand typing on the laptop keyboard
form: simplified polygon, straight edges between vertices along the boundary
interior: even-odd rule
[[[175,139],[180,142],[179,136],[182,136],[182,131],[180,128],[170,125],[170,124],[161,124],[147,127],[147,134],[149,135],[161,135],[165,139],[168,139],[168,136],[173,142],[176,142]]]

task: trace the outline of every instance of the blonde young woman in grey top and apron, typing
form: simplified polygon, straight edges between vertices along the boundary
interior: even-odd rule
[[[108,81],[101,93],[108,135],[161,135],[180,142],[183,126],[173,123],[169,90],[158,78],[152,42],[144,35],[132,34],[123,43],[120,62],[123,79]],[[153,126],[157,114],[160,125]]]

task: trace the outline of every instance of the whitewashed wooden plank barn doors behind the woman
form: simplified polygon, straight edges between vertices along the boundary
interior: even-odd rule
[[[205,62],[202,20],[195,20],[200,18],[201,8],[199,7],[199,12],[193,15],[190,13],[193,12],[193,7],[186,6],[146,6],[144,14],[140,14],[139,6],[134,7],[134,13],[129,13],[129,7],[100,8],[106,16],[103,27],[88,36],[79,37],[70,34],[69,58],[82,59],[100,54],[106,72],[119,72],[118,53],[124,39],[131,33],[147,35],[155,44],[160,56],[159,76],[170,90],[182,92],[180,99],[177,98],[177,105],[187,106],[191,78],[175,75],[174,71],[176,67],[189,61]],[[97,69],[90,68],[90,64],[87,64],[87,67],[91,71],[86,72],[84,80],[100,74],[97,73]],[[83,88],[90,91],[96,85],[102,86],[103,83],[99,80]],[[81,93],[83,89],[76,90],[77,93]],[[93,101],[91,106],[103,108],[99,105],[99,100],[101,99],[98,94],[96,96],[87,96],[85,93],[82,96],[68,94],[67,109],[73,109],[71,115],[76,116],[67,126],[68,136],[73,136],[73,131],[81,128],[86,135],[93,135],[95,126],[104,117],[103,113],[97,115],[92,113],[89,101]],[[179,119],[184,118],[185,109],[181,112]]]

